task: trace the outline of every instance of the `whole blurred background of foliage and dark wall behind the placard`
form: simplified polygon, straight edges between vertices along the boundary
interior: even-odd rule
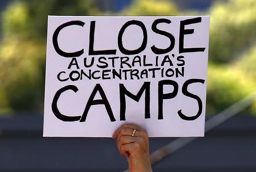
[[[47,15],[210,15],[207,119],[235,116],[178,142],[153,171],[256,171],[255,0],[1,0],[0,12],[0,171],[127,168],[112,139],[42,137]],[[150,150],[172,141],[150,139]]]

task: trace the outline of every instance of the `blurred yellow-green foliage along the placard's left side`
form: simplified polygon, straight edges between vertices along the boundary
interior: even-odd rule
[[[43,109],[47,15],[97,15],[90,1],[15,1],[2,13],[0,108]]]

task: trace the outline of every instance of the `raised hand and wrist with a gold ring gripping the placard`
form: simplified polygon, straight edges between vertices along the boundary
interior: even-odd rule
[[[135,124],[124,124],[114,132],[113,139],[117,140],[120,154],[126,156],[131,172],[152,171],[146,130]]]

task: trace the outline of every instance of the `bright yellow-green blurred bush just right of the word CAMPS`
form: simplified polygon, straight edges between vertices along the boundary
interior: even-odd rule
[[[216,114],[255,92],[256,82],[244,70],[232,65],[208,66],[207,110]],[[256,101],[249,108],[256,115]]]

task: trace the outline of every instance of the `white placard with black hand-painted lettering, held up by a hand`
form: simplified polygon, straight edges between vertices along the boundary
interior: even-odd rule
[[[204,136],[209,16],[48,16],[44,137]]]

